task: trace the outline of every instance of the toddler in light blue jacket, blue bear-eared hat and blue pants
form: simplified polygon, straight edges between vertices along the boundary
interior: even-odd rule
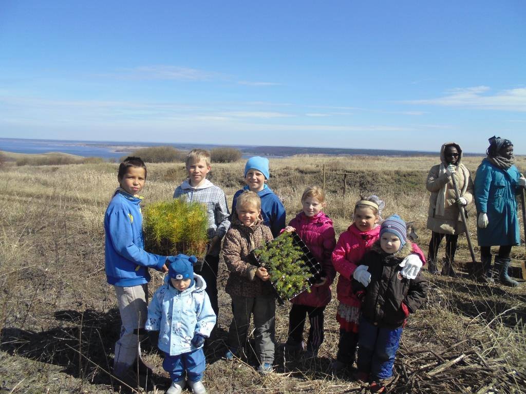
[[[205,394],[201,382],[206,368],[203,344],[216,324],[216,314],[205,292],[206,283],[194,274],[195,256],[168,257],[168,275],[148,305],[146,330],[159,331],[157,346],[165,353],[163,368],[170,374],[166,394],[179,394],[188,385]]]

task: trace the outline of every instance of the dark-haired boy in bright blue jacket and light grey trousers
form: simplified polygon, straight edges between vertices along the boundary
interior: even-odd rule
[[[120,338],[115,344],[114,374],[134,382],[130,367],[140,360],[138,329],[147,315],[148,267],[167,272],[166,256],[144,250],[143,216],[137,195],[146,182],[146,164],[127,157],[119,165],[117,188],[104,215],[106,277],[115,287],[119,305]],[[129,379],[128,379],[129,378]]]

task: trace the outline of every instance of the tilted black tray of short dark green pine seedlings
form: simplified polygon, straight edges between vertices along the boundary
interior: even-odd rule
[[[304,291],[310,292],[310,286],[322,276],[321,264],[296,232],[281,233],[252,255],[259,266],[267,269],[280,305]]]

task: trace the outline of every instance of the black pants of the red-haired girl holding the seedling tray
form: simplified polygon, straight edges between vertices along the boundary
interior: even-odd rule
[[[310,329],[307,345],[319,349],[323,342],[323,307],[292,304],[289,313],[289,341],[301,343],[305,327],[305,315],[309,316]]]

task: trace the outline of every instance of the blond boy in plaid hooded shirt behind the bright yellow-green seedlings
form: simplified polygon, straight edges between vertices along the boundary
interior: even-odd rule
[[[199,275],[205,279],[206,292],[217,316],[219,312],[217,304],[219,251],[221,239],[230,227],[228,219],[230,212],[225,192],[206,179],[210,169],[210,152],[204,149],[191,150],[186,157],[188,179],[177,186],[174,199],[186,196],[189,202],[201,202],[207,207],[209,247]]]

